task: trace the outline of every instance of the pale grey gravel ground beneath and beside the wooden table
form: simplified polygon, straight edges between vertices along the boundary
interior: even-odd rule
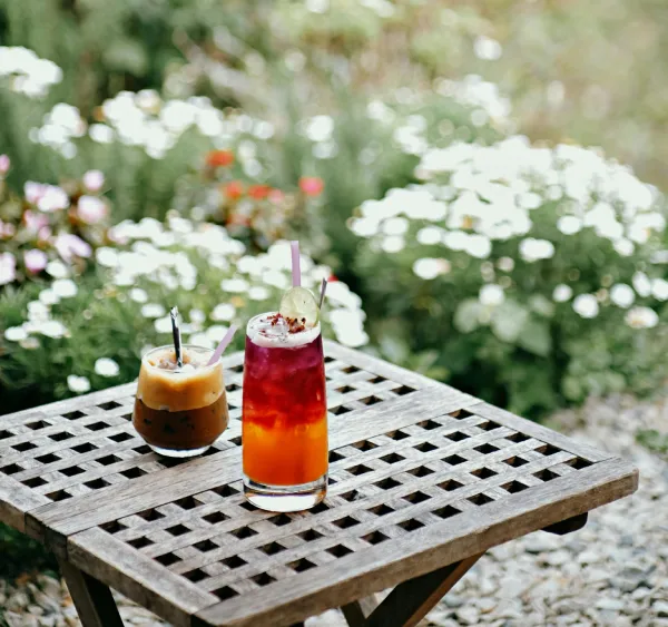
[[[638,492],[590,513],[584,529],[570,536],[538,532],[497,547],[423,626],[668,627],[668,460],[635,442],[638,429],[666,430],[668,400],[592,400],[582,410],[556,415],[550,424],[632,459],[640,469]],[[117,598],[126,624],[167,627]],[[43,575],[0,581],[0,608],[9,627],[80,625],[65,584]],[[337,611],[328,611],[306,625],[345,623]]]

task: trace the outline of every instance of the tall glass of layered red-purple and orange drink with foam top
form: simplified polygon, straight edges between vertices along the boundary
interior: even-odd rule
[[[273,313],[246,329],[243,457],[246,498],[271,511],[299,511],[327,487],[327,402],[320,324],[278,333]]]

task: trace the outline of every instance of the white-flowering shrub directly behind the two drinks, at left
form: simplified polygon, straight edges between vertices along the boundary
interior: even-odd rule
[[[79,282],[51,264],[51,283],[6,286],[0,294],[2,411],[132,381],[140,355],[170,342],[167,311],[184,317],[184,342],[214,346],[232,323],[277,308],[289,287],[286,242],[258,256],[224,228],[178,216],[124,222],[111,237],[119,247],[96,252],[97,271]],[[304,246],[307,249],[307,246]],[[303,256],[303,284],[317,290],[330,268]],[[341,282],[327,290],[324,330],[340,342],[366,343],[361,300]],[[237,334],[240,349],[244,333]]]

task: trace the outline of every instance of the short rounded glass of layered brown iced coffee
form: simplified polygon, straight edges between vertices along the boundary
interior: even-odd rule
[[[174,362],[174,346],[154,349],[141,359],[132,424],[157,453],[189,458],[204,453],[225,431],[229,421],[223,363],[207,365],[214,351],[183,346],[184,365],[177,372],[159,368]],[[200,365],[199,365],[200,364]]]

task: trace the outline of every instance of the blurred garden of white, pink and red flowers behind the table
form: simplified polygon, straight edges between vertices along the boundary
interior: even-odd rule
[[[0,413],[131,381],[175,304],[214,345],[276,306],[291,238],[346,345],[539,420],[664,392],[667,23],[658,0],[0,0]],[[49,564],[6,528],[0,553]]]

